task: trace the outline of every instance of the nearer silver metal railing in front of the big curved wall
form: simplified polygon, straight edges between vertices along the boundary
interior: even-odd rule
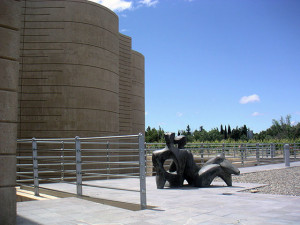
[[[17,184],[33,186],[39,195],[41,183],[76,185],[137,191],[141,209],[146,209],[144,136],[32,138],[18,140]],[[95,186],[85,181],[138,178],[139,190]]]

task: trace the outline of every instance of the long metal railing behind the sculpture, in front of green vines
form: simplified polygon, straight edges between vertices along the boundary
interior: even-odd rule
[[[283,163],[287,157],[290,161],[299,161],[300,143],[288,144],[286,148],[289,150],[289,156],[285,156],[284,145],[285,143],[188,143],[185,149],[193,153],[199,166],[219,153],[224,153],[226,158],[238,167]],[[148,159],[147,175],[155,174],[152,170],[152,152],[165,146],[165,143],[145,144]]]

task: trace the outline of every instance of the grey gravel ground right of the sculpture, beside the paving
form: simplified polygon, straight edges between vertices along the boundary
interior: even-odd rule
[[[300,167],[244,173],[233,176],[232,181],[234,183],[267,184],[267,186],[247,190],[247,192],[300,196]]]

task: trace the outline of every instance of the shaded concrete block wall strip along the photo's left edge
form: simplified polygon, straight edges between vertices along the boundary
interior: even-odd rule
[[[0,1],[0,224],[16,222],[20,3]]]

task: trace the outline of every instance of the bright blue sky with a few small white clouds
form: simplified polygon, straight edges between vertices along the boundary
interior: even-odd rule
[[[146,127],[300,122],[299,0],[101,0],[145,56]]]

